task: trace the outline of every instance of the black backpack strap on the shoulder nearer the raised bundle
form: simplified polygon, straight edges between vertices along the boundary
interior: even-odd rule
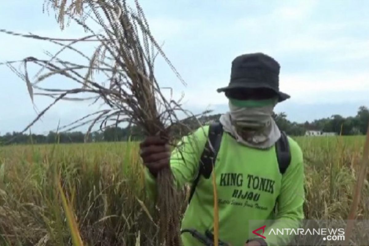
[[[223,135],[223,126],[220,122],[211,123],[209,126],[208,132],[208,141],[206,141],[205,148],[201,155],[200,159],[200,168],[199,173],[197,174],[196,179],[193,181],[189,203],[192,199],[193,194],[195,193],[195,189],[197,183],[199,183],[200,176],[203,175],[206,179],[210,178],[211,172],[213,171],[213,166],[215,164],[215,160],[217,159],[218,151],[220,148],[220,143]],[[210,148],[212,146],[212,148]]]

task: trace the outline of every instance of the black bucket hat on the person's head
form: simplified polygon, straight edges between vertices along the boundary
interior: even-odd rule
[[[278,95],[278,102],[290,96],[279,91],[279,63],[263,53],[251,53],[237,56],[232,61],[231,80],[227,87],[218,89],[225,92],[229,89],[271,89]]]

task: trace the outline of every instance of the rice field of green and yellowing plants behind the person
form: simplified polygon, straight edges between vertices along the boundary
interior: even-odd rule
[[[364,137],[296,140],[306,218],[345,219]],[[72,245],[59,181],[85,245],[158,245],[142,171],[137,142],[0,147],[0,245]],[[362,192],[358,218],[369,219],[367,181]]]

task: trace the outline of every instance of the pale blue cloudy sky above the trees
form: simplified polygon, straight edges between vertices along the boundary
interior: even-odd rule
[[[42,13],[43,0],[3,1],[0,28],[50,37],[83,35],[75,25],[60,31],[51,12]],[[369,105],[369,1],[141,1],[152,32],[184,78],[182,86],[159,60],[159,83],[184,93],[184,107],[199,112],[227,110],[227,99],[216,89],[228,84],[232,59],[263,52],[281,65],[281,90],[291,95],[276,107],[293,121],[332,114],[355,115]],[[93,46],[86,45],[87,53]],[[56,52],[47,42],[0,33],[0,62]],[[68,54],[65,54],[68,56]],[[77,58],[76,58],[77,59]],[[0,66],[0,133],[22,130],[35,116],[25,83]],[[55,87],[66,81],[52,80]],[[35,97],[41,110],[50,100]],[[55,129],[96,108],[62,102],[50,110],[33,132]]]

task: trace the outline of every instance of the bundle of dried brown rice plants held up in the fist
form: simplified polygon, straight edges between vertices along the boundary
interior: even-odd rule
[[[177,118],[176,112],[184,112],[195,119],[196,116],[183,110],[180,101],[167,100],[163,96],[154,76],[154,60],[157,55],[161,55],[166,60],[181,82],[183,80],[152,36],[138,1],[135,0],[133,9],[125,0],[45,0],[44,11],[49,11],[50,8],[55,11],[56,20],[62,29],[66,22],[74,21],[82,26],[88,35],[79,39],[57,39],[0,30],[11,35],[52,42],[62,47],[55,55],[47,53],[51,57],[48,60],[34,57],[22,60],[23,71],[13,66],[16,61],[6,63],[26,82],[32,102],[34,95],[54,98],[53,102],[39,112],[23,132],[34,125],[60,100],[92,100],[93,103],[103,100],[108,109],[86,115],[61,129],[69,131],[89,124],[87,133],[89,134],[96,124],[100,124],[102,130],[121,122],[128,122],[139,126],[146,135],[161,135],[174,144],[170,129],[174,125],[182,125],[182,129],[186,128],[183,121]],[[97,23],[102,30],[100,32],[92,30],[86,24],[86,20]],[[98,44],[90,56],[75,47],[76,44],[86,44],[86,42]],[[59,58],[59,54],[65,50],[80,55],[87,64]],[[40,67],[34,82],[31,82],[27,72],[28,63]],[[106,80],[96,82],[94,80],[96,73],[103,73]],[[79,86],[65,90],[41,86],[46,79],[56,75],[73,80]],[[92,96],[73,97],[75,94]],[[173,187],[170,169],[161,171],[157,180],[161,241],[165,245],[180,245],[180,201]]]

